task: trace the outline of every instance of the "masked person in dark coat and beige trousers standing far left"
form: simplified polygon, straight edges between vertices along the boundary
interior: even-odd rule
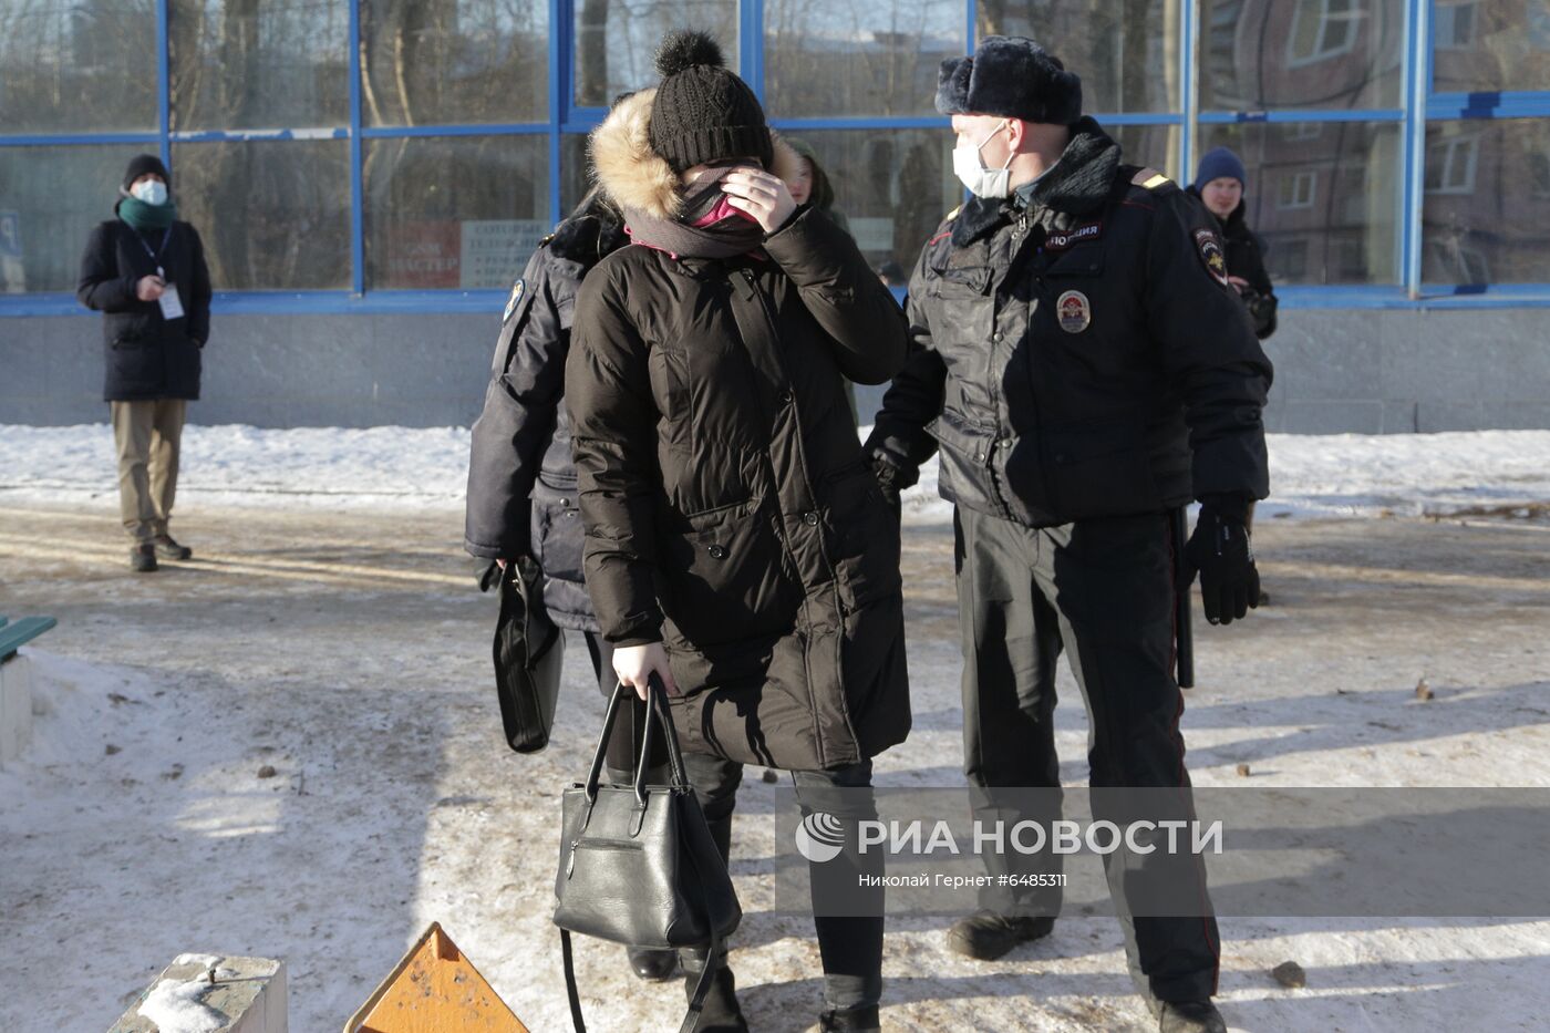
[[[146,572],[158,555],[192,555],[169,521],[183,417],[198,399],[209,340],[209,268],[198,233],[177,219],[172,175],[155,155],[129,163],[113,211],[116,219],[91,230],[76,298],[102,313],[119,515],[133,541],[130,569]]]

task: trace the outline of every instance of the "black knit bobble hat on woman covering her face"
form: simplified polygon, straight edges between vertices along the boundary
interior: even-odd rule
[[[657,73],[646,140],[674,172],[744,157],[770,168],[764,109],[749,84],[727,71],[716,40],[691,29],[668,33],[657,48]]]

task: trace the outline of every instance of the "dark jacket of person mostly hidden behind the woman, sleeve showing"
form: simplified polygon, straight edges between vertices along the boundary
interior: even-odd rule
[[[581,577],[577,470],[561,405],[570,318],[581,278],[623,242],[617,212],[594,197],[529,259],[501,321],[468,462],[463,548],[487,560],[538,560],[542,605],[574,631],[598,628]]]

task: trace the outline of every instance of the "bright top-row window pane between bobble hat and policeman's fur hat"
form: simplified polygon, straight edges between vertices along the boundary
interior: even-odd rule
[[[778,118],[935,115],[936,70],[964,54],[961,0],[766,0],[764,98]]]

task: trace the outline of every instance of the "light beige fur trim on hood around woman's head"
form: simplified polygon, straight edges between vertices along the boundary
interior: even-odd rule
[[[592,130],[592,168],[598,186],[623,211],[653,219],[676,219],[684,203],[684,185],[666,158],[651,150],[646,132],[656,88],[620,101],[603,124]],[[787,183],[801,169],[800,155],[770,133],[775,163],[770,169]]]

